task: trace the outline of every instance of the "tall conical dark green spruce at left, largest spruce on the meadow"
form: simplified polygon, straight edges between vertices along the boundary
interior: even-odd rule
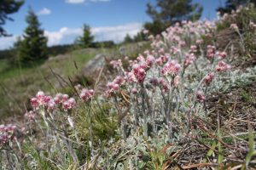
[[[26,16],[27,27],[23,37],[16,42],[17,56],[21,64],[31,64],[47,59],[47,37],[44,30],[40,28],[38,16],[29,9]]]

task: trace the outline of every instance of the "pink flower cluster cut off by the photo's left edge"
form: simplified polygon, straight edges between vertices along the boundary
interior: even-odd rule
[[[0,125],[0,147],[1,144],[6,144],[7,142],[15,139],[15,125]]]

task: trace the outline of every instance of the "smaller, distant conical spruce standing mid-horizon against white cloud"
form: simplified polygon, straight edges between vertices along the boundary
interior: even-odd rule
[[[90,48],[93,39],[94,37],[91,35],[90,26],[84,24],[83,35],[81,37],[78,37],[75,43],[79,46],[79,48]]]

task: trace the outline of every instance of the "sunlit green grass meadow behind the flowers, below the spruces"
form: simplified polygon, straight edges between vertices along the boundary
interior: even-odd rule
[[[24,113],[25,105],[38,90],[43,90],[47,94],[55,94],[56,91],[63,92],[67,85],[63,84],[66,87],[62,88],[50,69],[69,82],[68,77],[73,78],[79,75],[85,63],[96,54],[106,54],[113,59],[119,58],[119,47],[117,45],[113,48],[75,50],[50,58],[41,65],[25,68],[9,65],[6,59],[0,60],[0,95],[3,96],[0,99],[0,116],[15,116],[17,113]],[[140,50],[137,43],[126,44],[125,54],[137,55],[145,47],[148,47],[148,43],[143,43]]]

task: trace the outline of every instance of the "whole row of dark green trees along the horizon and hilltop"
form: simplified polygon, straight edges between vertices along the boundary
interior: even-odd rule
[[[247,3],[256,3],[256,0],[226,0],[224,7],[217,8],[220,14],[230,13],[240,5]],[[24,1],[2,0],[0,1],[0,37],[9,36],[4,30],[3,25],[6,20],[13,20],[9,14],[17,12],[24,4]],[[147,14],[151,17],[151,22],[146,22],[144,28],[151,34],[159,34],[168,26],[172,26],[182,20],[199,20],[201,18],[202,6],[199,3],[193,3],[192,0],[156,0],[156,5],[147,4]],[[15,59],[24,65],[31,62],[47,59],[49,54],[59,54],[67,52],[71,45],[55,46],[48,48],[48,39],[44,35],[44,29],[38,16],[30,8],[26,16],[27,27],[21,37],[15,42],[14,49],[3,50],[0,52],[0,59],[4,55],[14,55]],[[92,36],[90,26],[84,24],[83,34],[78,37],[72,48],[101,48],[113,47],[112,41],[95,42]],[[126,35],[124,42],[139,42],[146,40],[142,31],[138,32],[135,37]],[[2,56],[1,56],[2,55]]]

